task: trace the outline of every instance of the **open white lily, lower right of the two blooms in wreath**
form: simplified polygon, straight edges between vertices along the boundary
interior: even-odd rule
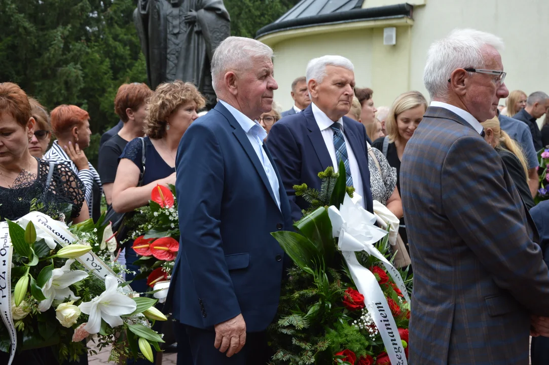
[[[129,315],[136,310],[135,300],[127,297],[118,289],[118,280],[114,276],[105,278],[105,291],[91,301],[79,305],[82,313],[89,316],[88,324],[84,329],[89,334],[99,332],[101,319],[107,322],[110,327],[117,327],[124,324],[120,316]]]

